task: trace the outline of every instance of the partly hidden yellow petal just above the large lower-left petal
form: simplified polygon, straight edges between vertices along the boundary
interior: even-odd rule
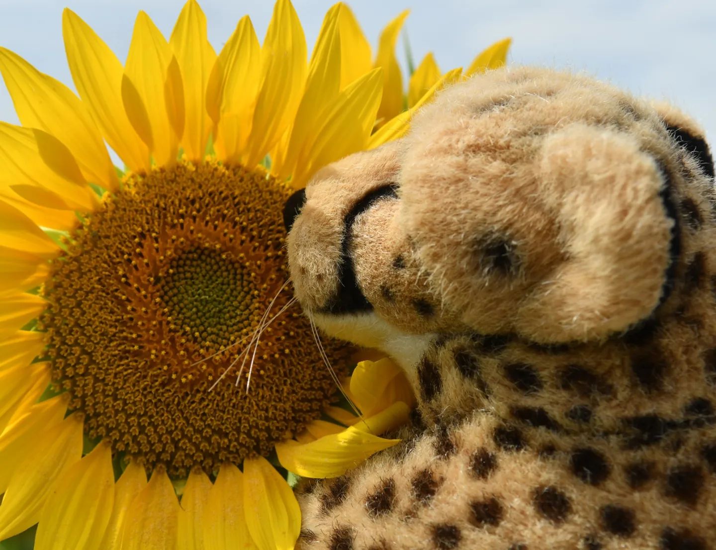
[[[56,437],[67,410],[62,396],[39,402],[24,415],[13,417],[0,435],[0,493],[4,493],[14,473],[26,471],[34,444],[45,431]]]

